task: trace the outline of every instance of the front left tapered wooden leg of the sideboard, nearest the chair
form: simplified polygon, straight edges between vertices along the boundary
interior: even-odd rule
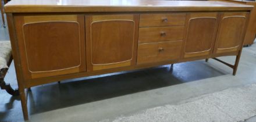
[[[29,112],[27,111],[27,96],[25,89],[19,89],[20,91],[20,101],[22,102],[22,112],[24,120],[29,120]]]

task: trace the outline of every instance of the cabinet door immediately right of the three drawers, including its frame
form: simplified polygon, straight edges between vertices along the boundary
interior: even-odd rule
[[[212,52],[218,25],[217,13],[188,13],[184,58]]]

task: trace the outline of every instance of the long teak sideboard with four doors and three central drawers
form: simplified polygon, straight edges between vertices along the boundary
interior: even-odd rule
[[[215,1],[13,0],[5,5],[23,116],[26,89],[68,78],[236,56],[253,6]]]

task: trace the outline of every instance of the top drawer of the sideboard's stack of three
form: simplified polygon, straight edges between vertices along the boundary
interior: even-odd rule
[[[141,14],[140,27],[182,26],[185,20],[186,13]]]

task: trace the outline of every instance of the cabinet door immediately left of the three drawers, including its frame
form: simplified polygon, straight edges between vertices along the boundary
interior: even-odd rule
[[[87,70],[136,64],[138,15],[86,16]]]

